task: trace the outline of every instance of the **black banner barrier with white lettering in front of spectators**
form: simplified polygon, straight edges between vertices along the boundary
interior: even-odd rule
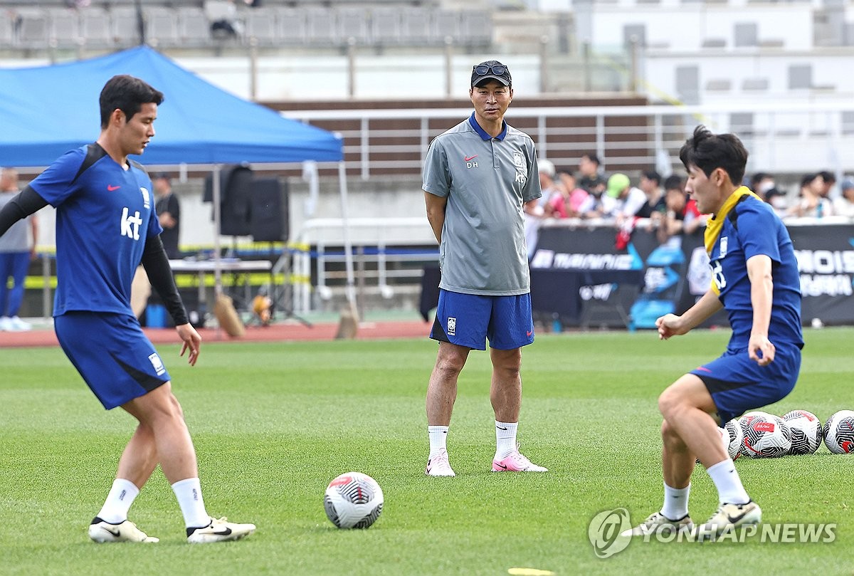
[[[854,223],[787,223],[787,228],[800,269],[804,324],[854,324]],[[658,244],[655,232],[641,224],[622,250],[616,235],[611,226],[541,226],[530,262],[535,312],[584,326],[597,323],[590,317],[594,311],[626,309],[630,297],[626,325],[653,328],[658,316],[681,314],[708,290],[703,229]],[[419,306],[425,320],[436,308],[438,285],[438,267],[425,268]],[[727,324],[721,311],[704,326]]]

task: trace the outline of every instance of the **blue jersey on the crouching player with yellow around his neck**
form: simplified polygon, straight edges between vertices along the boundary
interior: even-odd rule
[[[743,350],[750,340],[753,306],[747,260],[759,254],[771,259],[774,282],[768,339],[775,346],[802,348],[800,275],[792,238],[768,203],[749,196],[730,211],[711,250],[712,281],[720,290],[733,329],[728,347]]]

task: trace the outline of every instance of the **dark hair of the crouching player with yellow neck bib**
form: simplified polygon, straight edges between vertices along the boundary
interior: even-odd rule
[[[682,144],[679,159],[686,169],[696,166],[706,177],[722,168],[734,185],[740,185],[745,176],[747,150],[735,134],[713,134],[700,124],[694,128],[693,137]]]

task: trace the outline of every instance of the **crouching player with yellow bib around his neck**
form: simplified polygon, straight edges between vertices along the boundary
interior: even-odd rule
[[[671,384],[658,397],[664,506],[624,532],[690,531],[713,538],[762,521],[715,430],[746,410],[775,403],[798,379],[804,340],[800,279],[792,240],[774,209],[740,182],[747,150],[733,134],[698,126],[679,157],[688,173],[686,191],[703,214],[711,214],[705,249],[711,288],[685,314],[656,320],[658,338],[684,334],[719,309],[727,310],[732,337],[722,356]],[[702,526],[688,516],[688,492],[696,459],[717,487],[720,506]]]

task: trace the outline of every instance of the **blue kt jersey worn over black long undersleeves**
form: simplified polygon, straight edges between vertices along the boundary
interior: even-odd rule
[[[131,284],[145,239],[160,234],[148,173],[125,170],[99,144],[71,150],[30,183],[56,208],[54,316],[133,314]]]

